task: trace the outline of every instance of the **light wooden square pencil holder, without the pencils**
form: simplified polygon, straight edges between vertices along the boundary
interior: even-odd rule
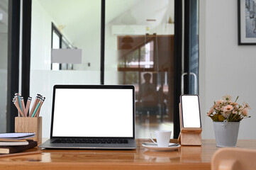
[[[28,140],[35,140],[38,145],[42,143],[42,117],[16,117],[15,132],[35,132],[35,137]]]

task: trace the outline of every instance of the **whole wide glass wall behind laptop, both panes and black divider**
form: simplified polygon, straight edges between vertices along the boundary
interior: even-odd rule
[[[30,96],[46,97],[40,112],[43,137],[50,136],[55,84],[133,84],[135,137],[148,138],[154,130],[172,130],[177,137],[182,74],[198,75],[197,1],[33,0],[28,76]],[[187,8],[190,2],[196,6]],[[195,13],[184,36],[183,9]],[[53,62],[52,50],[64,48],[82,50],[82,62]],[[184,79],[184,84],[198,82]]]

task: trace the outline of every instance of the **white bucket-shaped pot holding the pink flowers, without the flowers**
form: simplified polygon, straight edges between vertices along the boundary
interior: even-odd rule
[[[217,147],[236,147],[240,122],[213,122]]]

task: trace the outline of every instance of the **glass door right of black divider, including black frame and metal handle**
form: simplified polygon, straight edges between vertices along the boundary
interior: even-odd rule
[[[106,1],[104,82],[135,86],[135,137],[177,138],[179,96],[199,92],[198,49],[197,0]]]

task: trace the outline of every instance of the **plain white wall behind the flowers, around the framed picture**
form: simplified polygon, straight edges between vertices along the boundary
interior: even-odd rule
[[[247,102],[252,118],[242,120],[238,138],[256,139],[256,47],[238,45],[238,1],[206,0],[200,3],[199,95],[203,138],[214,138],[206,113],[213,101],[230,94]]]

